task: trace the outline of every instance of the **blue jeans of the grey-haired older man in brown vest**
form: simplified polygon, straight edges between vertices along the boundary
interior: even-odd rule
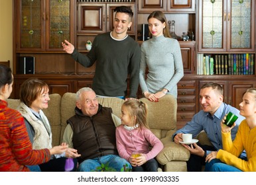
[[[104,155],[102,157],[96,157],[94,159],[86,159],[78,166],[78,172],[94,172],[101,171],[101,164],[107,166],[108,169],[105,171],[114,169],[117,172],[121,171],[123,165],[128,165],[127,168],[131,168],[130,163],[128,163],[125,159],[119,157],[118,155]],[[99,167],[100,169],[98,169]]]

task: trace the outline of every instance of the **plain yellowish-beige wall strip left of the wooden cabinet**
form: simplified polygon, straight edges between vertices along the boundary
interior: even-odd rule
[[[0,0],[0,61],[13,66],[13,1]]]

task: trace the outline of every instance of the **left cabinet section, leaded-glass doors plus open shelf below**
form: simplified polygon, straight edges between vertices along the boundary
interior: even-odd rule
[[[74,60],[61,46],[74,43],[75,0],[13,0],[13,73],[19,57],[34,57],[35,73],[74,73]]]

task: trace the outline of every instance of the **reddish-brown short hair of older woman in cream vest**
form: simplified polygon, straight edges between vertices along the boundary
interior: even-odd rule
[[[48,90],[48,85],[39,79],[27,79],[21,85],[20,91],[20,100],[27,106],[31,106],[32,102],[36,100],[40,93],[44,89],[44,91]]]

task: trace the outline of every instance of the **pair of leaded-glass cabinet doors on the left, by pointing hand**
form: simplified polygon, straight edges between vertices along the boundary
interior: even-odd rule
[[[62,51],[64,39],[74,42],[74,0],[14,2],[17,52]]]

